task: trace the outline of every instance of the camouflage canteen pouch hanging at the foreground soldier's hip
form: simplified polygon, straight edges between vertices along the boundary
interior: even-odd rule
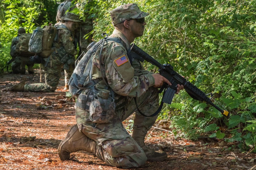
[[[115,100],[112,97],[107,99],[94,95],[90,104],[89,119],[93,123],[109,123],[115,113]]]

